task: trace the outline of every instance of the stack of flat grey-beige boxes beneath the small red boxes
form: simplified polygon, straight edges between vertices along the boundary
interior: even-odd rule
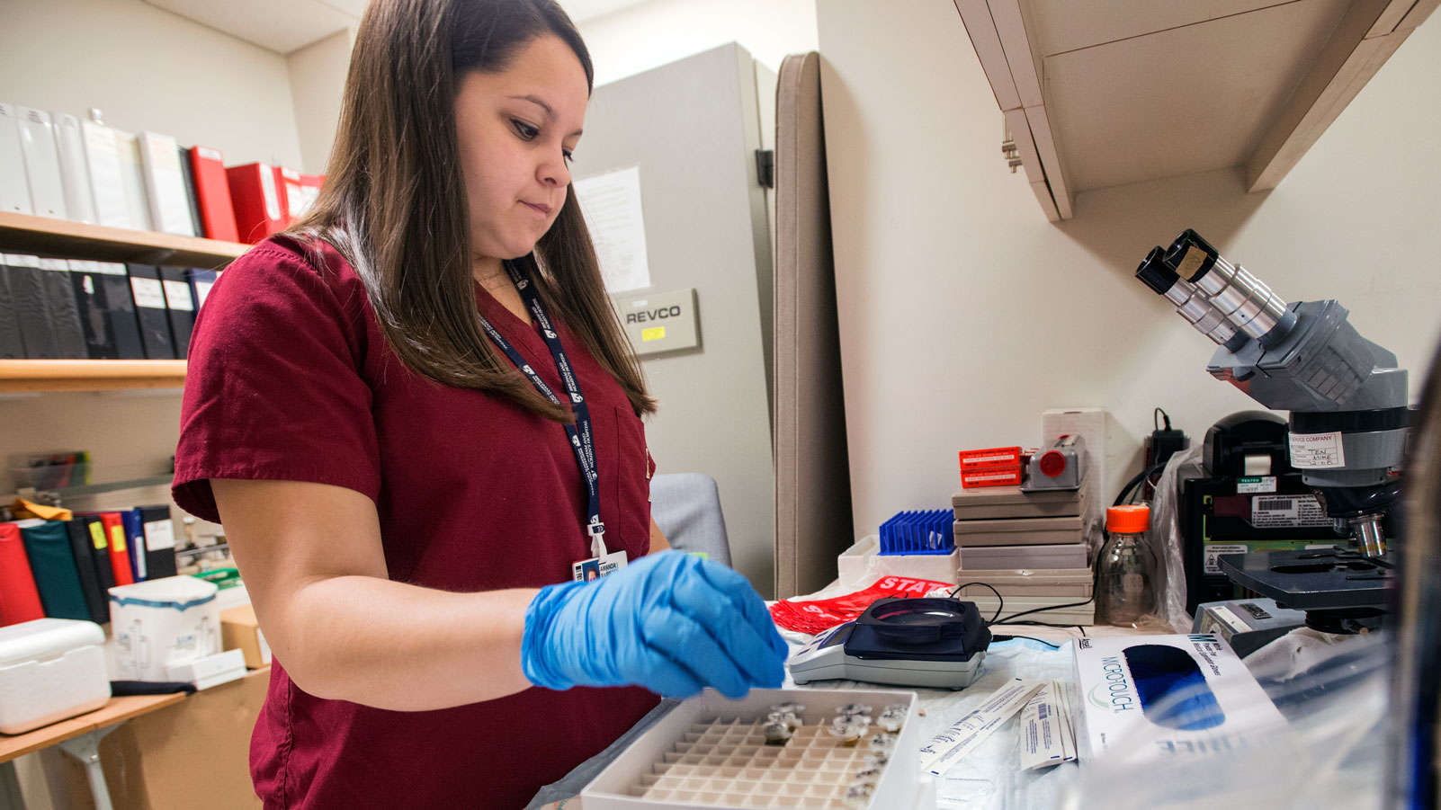
[[[1020,487],[983,487],[951,496],[955,509],[955,548],[961,564],[957,582],[981,615],[1001,617],[1032,608],[1082,602],[1091,597],[1094,578],[1087,559],[1084,522],[1091,483],[1079,490],[1020,491]],[[1091,624],[1095,604],[1046,610],[1027,621]]]

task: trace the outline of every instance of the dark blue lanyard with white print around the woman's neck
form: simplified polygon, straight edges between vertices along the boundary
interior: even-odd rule
[[[540,333],[545,336],[545,344],[550,350],[550,356],[555,359],[555,368],[561,372],[561,382],[565,385],[565,392],[571,398],[571,411],[575,414],[575,424],[565,425],[565,435],[571,440],[571,450],[575,451],[575,461],[581,466],[581,476],[585,479],[585,489],[589,494],[589,515],[585,522],[585,530],[591,536],[591,555],[605,556],[605,523],[601,523],[601,474],[595,467],[595,438],[591,434],[591,406],[585,404],[585,398],[581,396],[581,380],[575,378],[575,372],[571,370],[571,360],[565,356],[565,349],[561,346],[561,336],[556,334],[555,327],[550,324],[550,317],[545,311],[545,306],[540,304],[540,295],[536,293],[535,285],[526,278],[520,270],[513,262],[506,262],[506,271],[510,274],[510,280],[516,282],[516,290],[520,291],[520,297],[525,300],[526,307],[529,307],[530,314],[540,324]],[[516,347],[510,344],[509,340],[494,326],[480,316],[480,326],[486,329],[486,334],[501,352],[510,357],[510,362],[520,369],[520,373],[526,375],[530,385],[536,386],[542,395],[545,395],[550,402],[556,405],[561,404],[561,398],[555,395],[549,385],[540,379],[540,375],[530,368],[530,363],[516,352]]]

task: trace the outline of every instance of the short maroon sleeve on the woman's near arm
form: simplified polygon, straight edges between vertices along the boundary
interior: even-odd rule
[[[274,242],[220,274],[190,342],[171,490],[182,509],[219,522],[210,479],[379,496],[365,294],[353,274],[349,284]]]

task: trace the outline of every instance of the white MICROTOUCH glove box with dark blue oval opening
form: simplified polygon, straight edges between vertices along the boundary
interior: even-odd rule
[[[1082,761],[1195,757],[1265,745],[1285,728],[1231,647],[1212,634],[1075,640],[1072,711]]]

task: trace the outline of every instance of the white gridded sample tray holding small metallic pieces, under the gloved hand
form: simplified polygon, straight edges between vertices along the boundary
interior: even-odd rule
[[[771,706],[806,706],[801,726],[784,745],[767,745],[761,726]],[[909,810],[928,798],[932,785],[919,778],[915,693],[840,689],[752,689],[728,700],[708,689],[676,706],[617,757],[581,791],[586,810],[690,810],[741,807],[807,807],[850,810],[843,801],[853,774],[870,752],[870,729],[855,747],[830,734],[836,709],[866,703],[880,709],[902,703],[901,726],[891,761],[882,765],[873,810]],[[934,798],[931,798],[934,807]]]

